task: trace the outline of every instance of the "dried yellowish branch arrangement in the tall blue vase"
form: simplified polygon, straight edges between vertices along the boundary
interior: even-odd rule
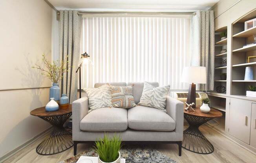
[[[59,83],[59,81],[63,78],[63,73],[68,71],[68,57],[66,57],[65,60],[62,62],[57,60],[51,63],[49,60],[46,59],[46,56],[44,54],[42,56],[42,60],[46,69],[37,64],[35,64],[35,66],[32,68],[42,71],[41,74],[44,75],[44,77],[49,78],[51,82]]]

